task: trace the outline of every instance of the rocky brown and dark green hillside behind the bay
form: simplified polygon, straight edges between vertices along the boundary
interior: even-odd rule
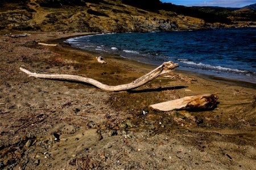
[[[233,15],[228,9],[176,6],[158,0],[145,2],[4,0],[0,2],[0,29],[145,32],[255,25],[255,20],[251,20],[255,12]]]

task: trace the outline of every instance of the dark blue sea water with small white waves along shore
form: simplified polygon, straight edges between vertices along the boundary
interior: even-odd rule
[[[144,63],[256,83],[256,28],[110,33],[68,39],[72,46]]]

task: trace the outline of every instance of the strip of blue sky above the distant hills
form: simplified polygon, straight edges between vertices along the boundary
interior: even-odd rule
[[[244,7],[256,3],[256,0],[160,0],[184,6],[220,6],[220,7]]]

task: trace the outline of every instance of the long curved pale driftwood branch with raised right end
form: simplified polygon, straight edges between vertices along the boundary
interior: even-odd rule
[[[98,82],[97,80],[86,78],[84,76],[79,75],[68,75],[68,74],[37,74],[37,73],[31,73],[30,71],[26,69],[19,68],[24,73],[27,73],[28,76],[33,76],[35,78],[44,78],[44,79],[61,79],[61,80],[72,80],[77,82],[84,82],[92,84],[93,86],[96,86],[102,90],[105,91],[125,91],[125,90],[131,90],[137,87],[142,86],[143,84],[146,84],[150,82],[151,80],[157,78],[158,76],[162,74],[166,74],[170,72],[171,70],[174,70],[177,66],[179,66],[177,63],[174,63],[172,61],[164,62],[162,65],[157,67],[156,69],[150,71],[150,73],[147,73],[140,78],[134,80],[134,82],[131,82],[129,84],[122,84],[118,86],[108,86],[106,84],[103,84],[101,82]]]

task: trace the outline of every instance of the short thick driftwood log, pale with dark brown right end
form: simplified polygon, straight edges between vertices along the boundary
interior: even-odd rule
[[[173,111],[177,109],[211,109],[216,104],[218,96],[214,94],[187,96],[181,99],[170,100],[163,103],[150,105],[150,108],[159,111]]]

